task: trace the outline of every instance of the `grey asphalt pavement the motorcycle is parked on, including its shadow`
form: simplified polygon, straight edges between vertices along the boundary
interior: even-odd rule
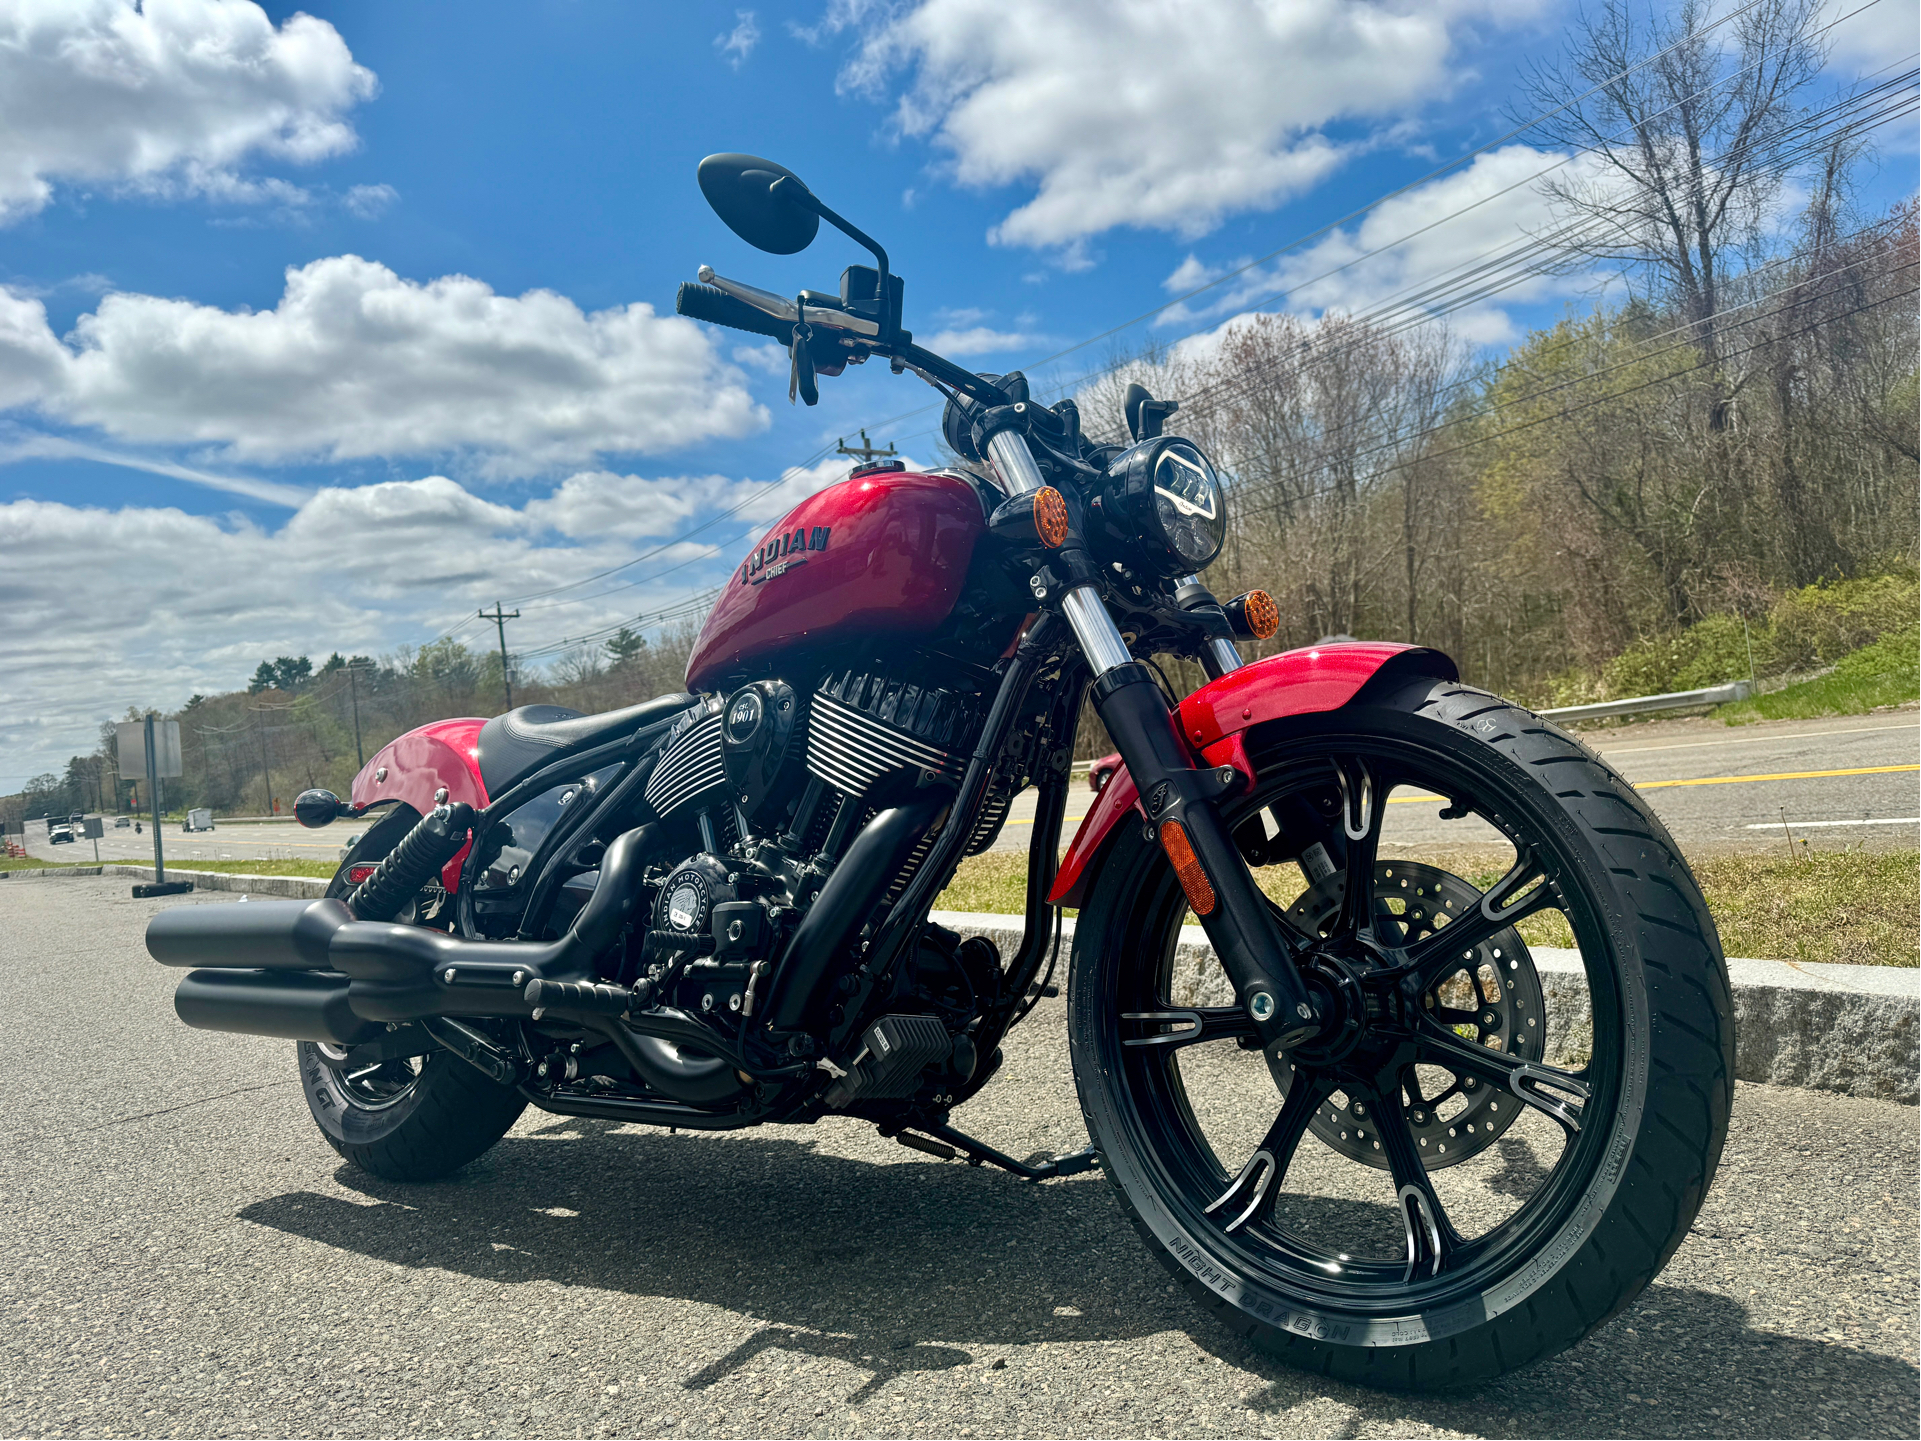
[[[0,1433],[1921,1426],[1911,1107],[1744,1086],[1694,1233],[1627,1312],[1479,1391],[1379,1395],[1195,1312],[1101,1176],[1026,1185],[853,1122],[528,1114],[450,1182],[375,1182],[315,1132],[290,1043],[173,1018],[175,976],[140,947],[171,903],[225,899],[0,882]],[[960,1120],[1014,1155],[1085,1141],[1058,1001]]]

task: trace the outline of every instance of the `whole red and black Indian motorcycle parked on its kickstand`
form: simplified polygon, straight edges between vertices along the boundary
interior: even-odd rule
[[[1131,444],[1097,446],[1072,400],[916,346],[886,252],[791,171],[713,156],[699,184],[761,250],[824,219],[876,263],[791,298],[703,267],[680,313],[780,340],[809,403],[845,365],[912,371],[978,469],[866,465],[797,505],[726,582],[686,694],[442,720],[352,801],[302,795],[307,824],[380,818],[328,899],[159,913],[148,949],[194,966],[181,1018],[298,1041],[321,1132],[396,1180],[526,1105],[841,1114],[1030,1180],[1099,1166],[1220,1320],[1360,1383],[1489,1378],[1627,1305],[1700,1209],[1733,1089],[1714,920],[1646,805],[1433,649],[1243,663],[1276,609],[1201,584],[1228,494],[1162,432],[1172,403],[1131,390]],[[1156,653],[1208,684],[1172,694]],[[1060,857],[1089,694],[1124,765]],[[1003,957],[928,916],[1030,786]],[[1506,874],[1383,853],[1410,797],[1481,826]],[[953,1114],[1049,989],[1062,907],[1093,1145],[1026,1164]],[[1520,932],[1546,918],[1552,966]]]

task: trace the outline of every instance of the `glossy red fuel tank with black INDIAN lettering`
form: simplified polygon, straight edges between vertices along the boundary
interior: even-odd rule
[[[943,471],[870,471],[809,496],[728,576],[688,657],[688,690],[784,649],[928,634],[960,598],[985,528],[972,482]]]

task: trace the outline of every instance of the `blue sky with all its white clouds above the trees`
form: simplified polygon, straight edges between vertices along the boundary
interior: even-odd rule
[[[703,261],[791,292],[861,259],[830,232],[747,250],[693,186],[709,152],[791,165],[886,240],[922,342],[1003,371],[1498,138],[1566,15],[0,0],[0,790],[267,655],[478,644],[478,605],[561,586],[515,644],[669,607],[863,425],[936,459],[937,411],[886,425],[932,400],[916,380],[849,369],[790,407],[784,355],[672,319]],[[1838,77],[1871,71],[1913,12],[1835,38]],[[1237,309],[1366,305],[1539,198],[1301,282],[1552,159],[1491,152],[1053,375]],[[1873,188],[1911,192],[1911,134]],[[1543,282],[1456,327],[1498,344],[1577,298]]]

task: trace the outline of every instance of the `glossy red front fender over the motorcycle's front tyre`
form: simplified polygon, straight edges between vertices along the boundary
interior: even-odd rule
[[[1447,655],[1423,646],[1372,640],[1304,646],[1243,665],[1183,699],[1181,740],[1195,751],[1195,765],[1231,765],[1252,780],[1241,732],[1287,715],[1337,711],[1389,663],[1395,672],[1408,676],[1460,678]],[[1072,907],[1087,901],[1087,888],[1099,870],[1095,863],[1130,811],[1147,818],[1128,767],[1120,767],[1074,834],[1049,901]]]

